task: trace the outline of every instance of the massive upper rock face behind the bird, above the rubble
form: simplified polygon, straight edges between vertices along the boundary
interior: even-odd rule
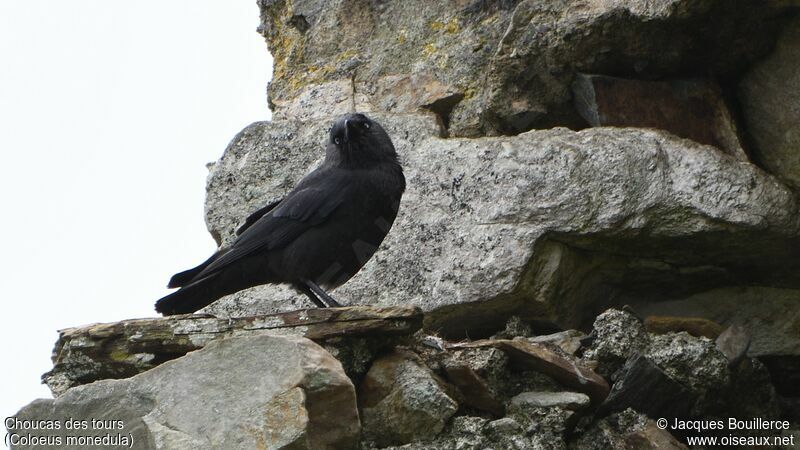
[[[760,151],[750,145],[760,134],[753,120],[785,122],[753,102],[774,103],[759,92],[793,79],[791,5],[259,4],[276,120],[247,127],[213,165],[206,219],[221,245],[319,162],[333,117],[357,109],[392,136],[409,187],[380,251],[336,291],[346,304],[419,305],[429,329],[485,336],[509,314],[586,329],[626,303],[725,328],[739,321],[728,306],[669,311],[683,300],[691,311],[756,304],[702,300],[720,289],[758,292],[780,310],[796,303],[784,306],[800,292],[800,215],[780,171],[793,169],[747,154]],[[770,64],[789,81],[767,76]],[[746,69],[740,111],[732,86]],[[781,102],[770,113],[791,114],[791,95]],[[559,124],[601,127],[524,132]],[[483,137],[497,134],[518,135]],[[205,312],[305,306],[271,286]],[[756,308],[753,354],[797,353],[794,314],[761,320],[775,308]]]

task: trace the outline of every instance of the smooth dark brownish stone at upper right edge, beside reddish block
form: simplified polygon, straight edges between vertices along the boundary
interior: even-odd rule
[[[739,96],[756,159],[800,189],[800,19],[786,26],[773,53],[744,76]]]

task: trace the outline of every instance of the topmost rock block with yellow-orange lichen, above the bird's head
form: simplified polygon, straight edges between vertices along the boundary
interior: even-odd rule
[[[427,108],[456,136],[580,124],[577,71],[733,75],[767,53],[784,11],[715,0],[259,5],[276,118]]]

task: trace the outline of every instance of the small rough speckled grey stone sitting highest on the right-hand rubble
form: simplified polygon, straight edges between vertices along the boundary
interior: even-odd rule
[[[594,339],[584,352],[583,360],[596,361],[597,372],[606,377],[650,345],[644,324],[633,314],[619,309],[609,309],[597,316],[592,334]]]

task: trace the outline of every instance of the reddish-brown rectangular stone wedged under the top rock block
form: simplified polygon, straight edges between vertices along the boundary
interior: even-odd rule
[[[572,86],[575,107],[593,127],[658,128],[748,161],[722,91],[708,80],[644,81],[578,74]]]

